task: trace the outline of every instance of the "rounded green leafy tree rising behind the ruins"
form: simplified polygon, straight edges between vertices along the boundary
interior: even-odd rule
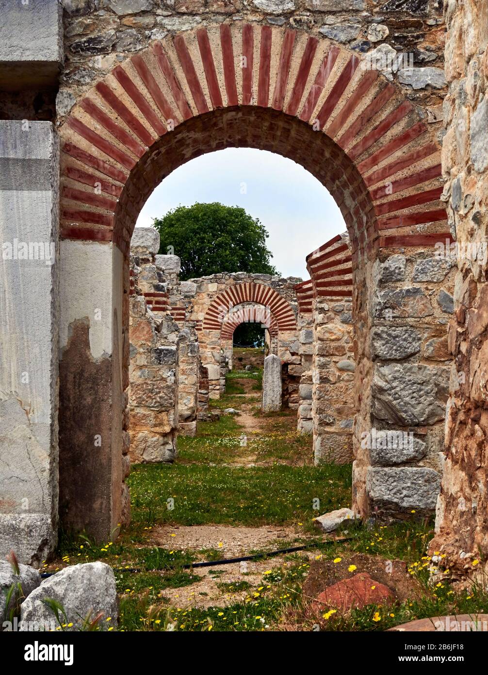
[[[268,232],[240,207],[218,202],[178,207],[154,219],[161,235],[159,252],[181,258],[181,279],[218,272],[278,274],[266,246]]]

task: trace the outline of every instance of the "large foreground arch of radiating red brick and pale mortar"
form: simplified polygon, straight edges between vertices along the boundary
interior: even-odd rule
[[[366,249],[449,237],[440,151],[401,88],[326,38],[218,24],[127,58],[61,125],[61,235],[127,253],[146,198],[203,153],[290,157],[336,199],[353,266]]]

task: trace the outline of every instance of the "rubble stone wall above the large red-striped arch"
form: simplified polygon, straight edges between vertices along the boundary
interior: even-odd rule
[[[441,0],[61,0],[64,11],[65,69],[57,115],[65,115],[96,80],[127,55],[167,34],[243,20],[285,26],[330,38],[358,53],[413,55],[386,68],[404,86],[406,97],[425,109],[429,121],[441,117],[444,38]],[[412,65],[414,68],[412,68]],[[426,89],[429,84],[431,88]],[[36,115],[53,115],[52,94],[44,94]],[[30,101],[30,99],[29,99]],[[9,103],[25,116],[29,101]],[[32,102],[31,102],[32,103]],[[7,104],[5,104],[7,105]]]

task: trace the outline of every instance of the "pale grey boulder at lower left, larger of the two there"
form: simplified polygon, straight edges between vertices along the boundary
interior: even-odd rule
[[[102,618],[98,626],[102,630],[117,628],[119,610],[115,576],[104,562],[66,567],[45,579],[22,603],[20,630],[27,630],[29,622],[48,624],[53,619],[52,610],[43,602],[46,598],[53,598],[63,605],[67,623],[73,622],[71,630],[80,630],[87,616],[93,620],[100,612]]]

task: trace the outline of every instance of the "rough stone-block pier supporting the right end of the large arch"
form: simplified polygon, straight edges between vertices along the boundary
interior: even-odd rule
[[[388,253],[354,288],[353,508],[386,521],[435,510],[454,279],[452,262],[437,252]]]

